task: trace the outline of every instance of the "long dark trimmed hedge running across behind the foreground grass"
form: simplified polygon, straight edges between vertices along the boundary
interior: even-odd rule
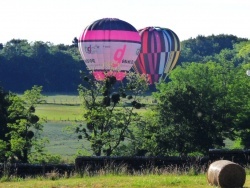
[[[80,156],[75,159],[75,164],[24,164],[24,163],[0,163],[0,177],[3,175],[37,176],[48,173],[70,175],[73,172],[96,172],[101,169],[117,170],[126,167],[128,171],[141,171],[157,168],[183,168],[184,170],[195,166],[196,168],[208,168],[209,164],[216,160],[230,160],[242,166],[250,162],[250,150],[209,150],[209,155],[204,157],[87,157]]]

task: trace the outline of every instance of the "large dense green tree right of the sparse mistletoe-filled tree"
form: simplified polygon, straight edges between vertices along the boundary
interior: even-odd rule
[[[244,121],[239,117],[246,116],[249,101],[238,70],[230,62],[191,63],[173,70],[171,82],[157,85],[157,121],[144,130],[144,143],[154,139],[157,155],[188,155],[206,154],[224,147],[226,138],[237,138]]]

